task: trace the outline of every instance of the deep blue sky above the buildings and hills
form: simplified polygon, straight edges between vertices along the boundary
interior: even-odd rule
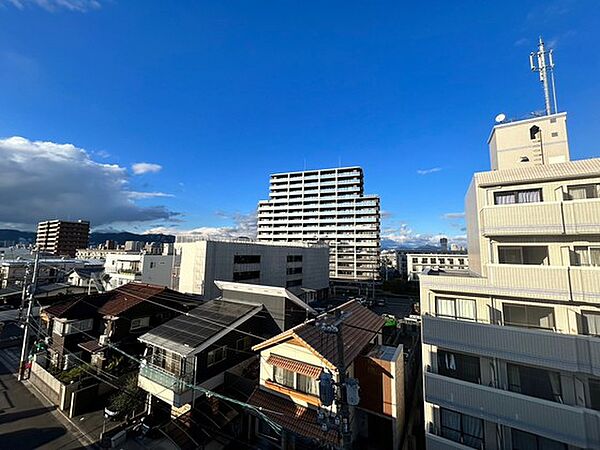
[[[270,173],[341,162],[365,169],[385,235],[461,236],[447,215],[489,168],[494,116],[543,108],[528,65],[540,34],[572,157],[598,156],[594,0],[0,0],[0,151],[39,177],[38,191],[17,176],[0,188],[60,199],[57,216],[89,204],[97,228],[227,231],[248,226]],[[89,192],[60,191],[77,183]],[[0,207],[6,226],[49,214]]]

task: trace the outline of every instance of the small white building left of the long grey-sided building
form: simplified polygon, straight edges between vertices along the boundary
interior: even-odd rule
[[[105,255],[106,290],[139,281],[170,288],[173,285],[173,255],[113,252]]]

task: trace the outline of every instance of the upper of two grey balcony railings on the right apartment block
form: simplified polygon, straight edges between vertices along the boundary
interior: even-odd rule
[[[600,376],[600,338],[423,316],[425,344]]]

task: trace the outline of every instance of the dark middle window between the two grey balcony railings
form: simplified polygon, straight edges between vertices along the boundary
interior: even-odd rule
[[[558,372],[510,363],[506,367],[510,391],[562,403]]]

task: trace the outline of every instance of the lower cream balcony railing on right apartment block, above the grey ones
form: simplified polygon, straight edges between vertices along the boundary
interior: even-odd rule
[[[451,292],[589,303],[600,301],[600,267],[487,264],[486,269],[487,278],[422,275],[421,282],[431,289]]]

